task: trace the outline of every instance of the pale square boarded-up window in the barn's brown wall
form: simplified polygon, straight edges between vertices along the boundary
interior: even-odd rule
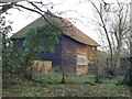
[[[87,65],[88,59],[85,55],[77,55],[77,65]]]

